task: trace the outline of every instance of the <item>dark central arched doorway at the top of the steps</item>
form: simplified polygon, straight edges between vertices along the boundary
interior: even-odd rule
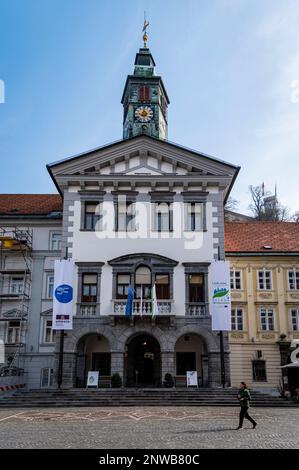
[[[161,384],[161,350],[158,341],[147,333],[130,338],[126,345],[127,387],[158,387]]]

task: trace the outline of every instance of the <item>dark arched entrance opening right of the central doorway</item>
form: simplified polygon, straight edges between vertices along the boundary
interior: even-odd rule
[[[208,356],[206,344],[200,335],[186,333],[175,345],[176,377],[186,377],[187,371],[197,371],[198,385],[208,384]]]

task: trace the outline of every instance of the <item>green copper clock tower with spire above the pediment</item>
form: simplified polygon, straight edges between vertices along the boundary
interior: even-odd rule
[[[147,134],[167,140],[169,99],[162,78],[155,75],[155,61],[146,47],[135,58],[133,75],[128,75],[121,103],[124,107],[123,138]]]

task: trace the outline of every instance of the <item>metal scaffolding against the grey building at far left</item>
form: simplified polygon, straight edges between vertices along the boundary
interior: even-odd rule
[[[17,262],[17,267],[14,266]],[[6,322],[6,363],[0,374],[24,371],[32,282],[32,230],[0,228],[0,322]],[[13,303],[13,308],[9,304]]]

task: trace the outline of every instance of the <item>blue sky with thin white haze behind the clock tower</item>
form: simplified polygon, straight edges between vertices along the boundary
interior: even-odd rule
[[[239,211],[262,182],[299,210],[299,0],[0,0],[0,192],[122,138],[145,10],[169,140],[241,166]]]

